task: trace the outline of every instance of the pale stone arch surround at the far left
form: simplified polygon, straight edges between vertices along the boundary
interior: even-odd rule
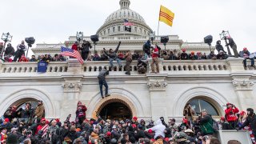
[[[20,105],[22,102],[24,103],[30,100],[42,100],[45,107],[46,118],[54,118],[56,116],[56,109],[49,95],[37,89],[18,90],[10,94],[0,104],[0,115],[4,114],[9,106]]]

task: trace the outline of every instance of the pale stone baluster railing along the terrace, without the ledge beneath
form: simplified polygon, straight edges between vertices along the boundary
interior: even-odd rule
[[[70,62],[78,63],[76,59],[70,59],[67,62],[50,62],[47,66],[46,73],[68,73]],[[72,63],[71,62],[71,63]],[[152,70],[148,59],[148,73]],[[77,67],[81,74],[94,75],[98,71],[105,68],[113,74],[124,74],[126,62],[122,61],[122,67],[114,62],[114,68],[110,68],[109,61],[84,62],[83,65],[78,63]],[[230,74],[231,72],[244,71],[241,58],[228,58],[226,60],[197,60],[197,61],[163,61],[159,62],[160,73],[163,74]],[[12,73],[36,73],[38,69],[37,62],[1,62],[0,74]],[[130,65],[131,74],[137,73],[137,61],[133,61]],[[224,72],[224,73],[223,73]],[[254,73],[254,72],[253,72]]]

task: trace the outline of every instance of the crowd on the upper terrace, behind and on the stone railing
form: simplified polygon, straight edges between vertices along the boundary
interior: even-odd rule
[[[243,48],[242,51],[238,53],[237,46],[234,43],[233,38],[228,37],[229,43],[226,46],[230,46],[232,50],[234,50],[234,57],[244,58],[243,65],[246,68],[246,60],[250,59],[251,65],[254,66],[254,59],[256,58],[255,54],[250,53],[247,48]],[[0,43],[0,49],[2,49],[2,43]],[[113,67],[113,62],[118,62],[118,66],[122,67],[121,61],[126,61],[127,72],[126,74],[130,74],[130,62],[133,60],[147,60],[147,58],[152,58],[152,63],[155,63],[158,67],[158,58],[162,58],[164,60],[201,60],[201,59],[226,59],[229,55],[224,50],[221,41],[218,40],[215,45],[215,49],[217,50],[217,54],[214,53],[214,50],[210,51],[210,54],[202,53],[202,52],[194,52],[191,51],[190,53],[186,53],[186,49],[183,48],[182,50],[161,50],[158,44],[153,45],[150,40],[146,41],[142,46],[143,54],[139,54],[138,51],[132,53],[132,51],[128,50],[126,53],[118,52],[119,46],[121,42],[118,43],[118,46],[115,50],[110,49],[106,51],[103,48],[100,53],[98,51],[94,51],[92,54],[91,52],[91,44],[90,42],[83,40],[82,44],[80,45],[79,42],[74,42],[71,46],[71,49],[78,50],[82,56],[84,61],[110,61],[110,66]],[[66,61],[66,58],[63,57],[61,54],[55,54],[52,57],[50,54],[40,55],[38,58],[35,58],[32,55],[32,58],[25,57],[25,51],[27,50],[25,42],[22,41],[17,46],[17,50],[14,50],[14,47],[11,46],[10,43],[7,44],[6,49],[4,50],[4,60],[6,62],[38,62],[38,61]],[[156,51],[158,50],[158,51]],[[151,65],[152,65],[151,63]],[[158,70],[157,70],[158,72]]]

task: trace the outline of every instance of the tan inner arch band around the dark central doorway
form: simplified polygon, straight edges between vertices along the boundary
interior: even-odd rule
[[[137,115],[134,104],[129,101],[129,99],[120,97],[118,95],[111,95],[110,97],[106,97],[102,99],[98,104],[95,106],[93,113],[91,114],[92,118],[97,118],[97,115],[102,110],[104,106],[107,104],[110,104],[112,102],[120,102],[128,107],[128,109],[131,111],[131,115]]]

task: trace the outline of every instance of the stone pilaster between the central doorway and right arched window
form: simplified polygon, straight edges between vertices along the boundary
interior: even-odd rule
[[[147,86],[150,89],[151,114],[152,119],[158,120],[162,116],[167,122],[167,106],[166,102],[166,76],[167,74],[147,74],[149,81]]]

